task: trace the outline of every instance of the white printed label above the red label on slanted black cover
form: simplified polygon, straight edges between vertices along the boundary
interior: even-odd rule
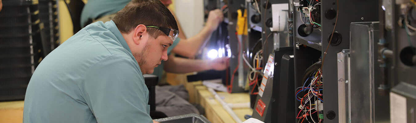
[[[267,59],[267,63],[265,66],[265,69],[263,71],[263,79],[261,81],[261,85],[259,88],[259,95],[260,97],[263,97],[263,93],[264,93],[264,89],[266,88],[266,84],[267,84],[267,79],[269,78],[269,76],[271,74],[273,74],[274,68],[275,68],[275,64],[274,63],[274,58],[272,57],[272,54],[269,55],[269,58]]]

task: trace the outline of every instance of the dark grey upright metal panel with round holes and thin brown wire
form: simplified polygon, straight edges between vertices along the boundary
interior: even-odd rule
[[[342,49],[349,49],[349,24],[351,22],[371,22],[378,21],[378,1],[377,0],[337,0],[339,3],[333,4],[336,1],[322,1],[321,15],[325,15],[326,10],[337,9],[338,7],[338,20],[335,31],[342,35],[342,42],[338,46],[329,46],[327,39],[334,29],[332,23],[335,19],[328,20],[326,17],[321,16],[322,20],[322,51],[327,50],[322,70],[322,76],[324,76],[324,101],[331,103],[324,103],[324,122],[325,123],[337,123],[338,116],[335,115],[334,119],[327,118],[326,114],[329,111],[338,112],[338,90],[337,90],[337,53]],[[354,9],[352,9],[352,7]],[[322,52],[324,55],[324,52]]]

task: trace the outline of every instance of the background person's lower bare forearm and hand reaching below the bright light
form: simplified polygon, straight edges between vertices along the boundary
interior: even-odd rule
[[[170,55],[168,61],[165,62],[164,70],[166,72],[182,74],[189,72],[199,72],[206,70],[217,70],[222,71],[227,69],[229,66],[228,58],[217,58],[213,60],[196,60],[196,59],[185,59]]]

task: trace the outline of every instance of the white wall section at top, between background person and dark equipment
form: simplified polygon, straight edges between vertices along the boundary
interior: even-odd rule
[[[186,37],[202,30],[204,24],[203,0],[175,0],[175,14]]]

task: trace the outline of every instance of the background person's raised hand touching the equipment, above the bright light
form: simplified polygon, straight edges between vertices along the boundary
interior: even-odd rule
[[[211,30],[217,30],[218,25],[223,22],[224,14],[220,9],[211,10],[208,14],[206,26]]]

